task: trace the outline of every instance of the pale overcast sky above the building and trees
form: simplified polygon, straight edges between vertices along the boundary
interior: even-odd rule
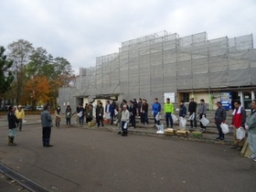
[[[0,46],[25,39],[68,59],[76,74],[124,41],[163,31],[256,37],[256,0],[0,0],[0,7]]]

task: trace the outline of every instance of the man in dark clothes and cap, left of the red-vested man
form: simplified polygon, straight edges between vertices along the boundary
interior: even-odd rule
[[[214,120],[219,132],[219,137],[217,137],[216,139],[224,140],[225,137],[224,137],[224,133],[221,130],[220,124],[225,123],[227,113],[224,107],[222,107],[222,104],[220,101],[218,101],[216,104],[218,109],[215,112]]]

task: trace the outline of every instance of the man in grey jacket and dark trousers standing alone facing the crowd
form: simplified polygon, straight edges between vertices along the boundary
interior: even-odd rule
[[[51,147],[52,144],[49,144],[50,133],[52,127],[52,118],[49,113],[50,107],[48,105],[44,106],[44,111],[41,113],[41,123],[43,127],[43,146]]]

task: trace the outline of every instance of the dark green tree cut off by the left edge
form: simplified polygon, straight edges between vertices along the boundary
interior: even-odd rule
[[[0,47],[0,101],[4,99],[4,93],[10,89],[11,83],[14,80],[14,75],[10,70],[12,65],[13,61],[7,59],[5,55],[5,48]]]

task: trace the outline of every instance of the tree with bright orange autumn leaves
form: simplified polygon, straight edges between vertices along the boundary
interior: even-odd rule
[[[37,75],[33,79],[28,80],[25,90],[29,94],[34,107],[38,101],[49,101],[50,84],[46,76]]]

